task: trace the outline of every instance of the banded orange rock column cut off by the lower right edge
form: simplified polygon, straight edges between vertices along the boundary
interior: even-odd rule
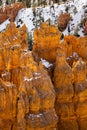
[[[73,66],[74,108],[80,130],[87,129],[87,79],[86,63],[79,59]]]

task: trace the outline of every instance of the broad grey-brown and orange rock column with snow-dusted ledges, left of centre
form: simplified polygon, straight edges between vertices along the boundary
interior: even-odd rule
[[[27,129],[54,130],[58,118],[54,109],[55,92],[51,80],[47,72],[33,61],[31,53],[24,52],[22,58],[20,94],[28,95],[29,112],[25,115]]]

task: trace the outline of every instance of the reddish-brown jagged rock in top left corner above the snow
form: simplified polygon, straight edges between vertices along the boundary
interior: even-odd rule
[[[23,3],[14,3],[12,6],[6,5],[5,9],[0,7],[0,24],[9,18],[11,22],[15,20],[17,13],[20,9],[25,8]]]

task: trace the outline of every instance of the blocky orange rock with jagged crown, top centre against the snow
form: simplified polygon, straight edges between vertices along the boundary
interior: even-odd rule
[[[55,26],[42,23],[40,29],[34,31],[33,52],[40,58],[54,62],[61,33]]]

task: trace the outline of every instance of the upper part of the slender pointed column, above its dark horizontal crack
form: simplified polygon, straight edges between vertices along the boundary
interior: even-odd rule
[[[60,51],[57,53],[54,85],[58,91],[58,102],[69,101],[73,96],[72,69],[66,62],[65,54]]]

